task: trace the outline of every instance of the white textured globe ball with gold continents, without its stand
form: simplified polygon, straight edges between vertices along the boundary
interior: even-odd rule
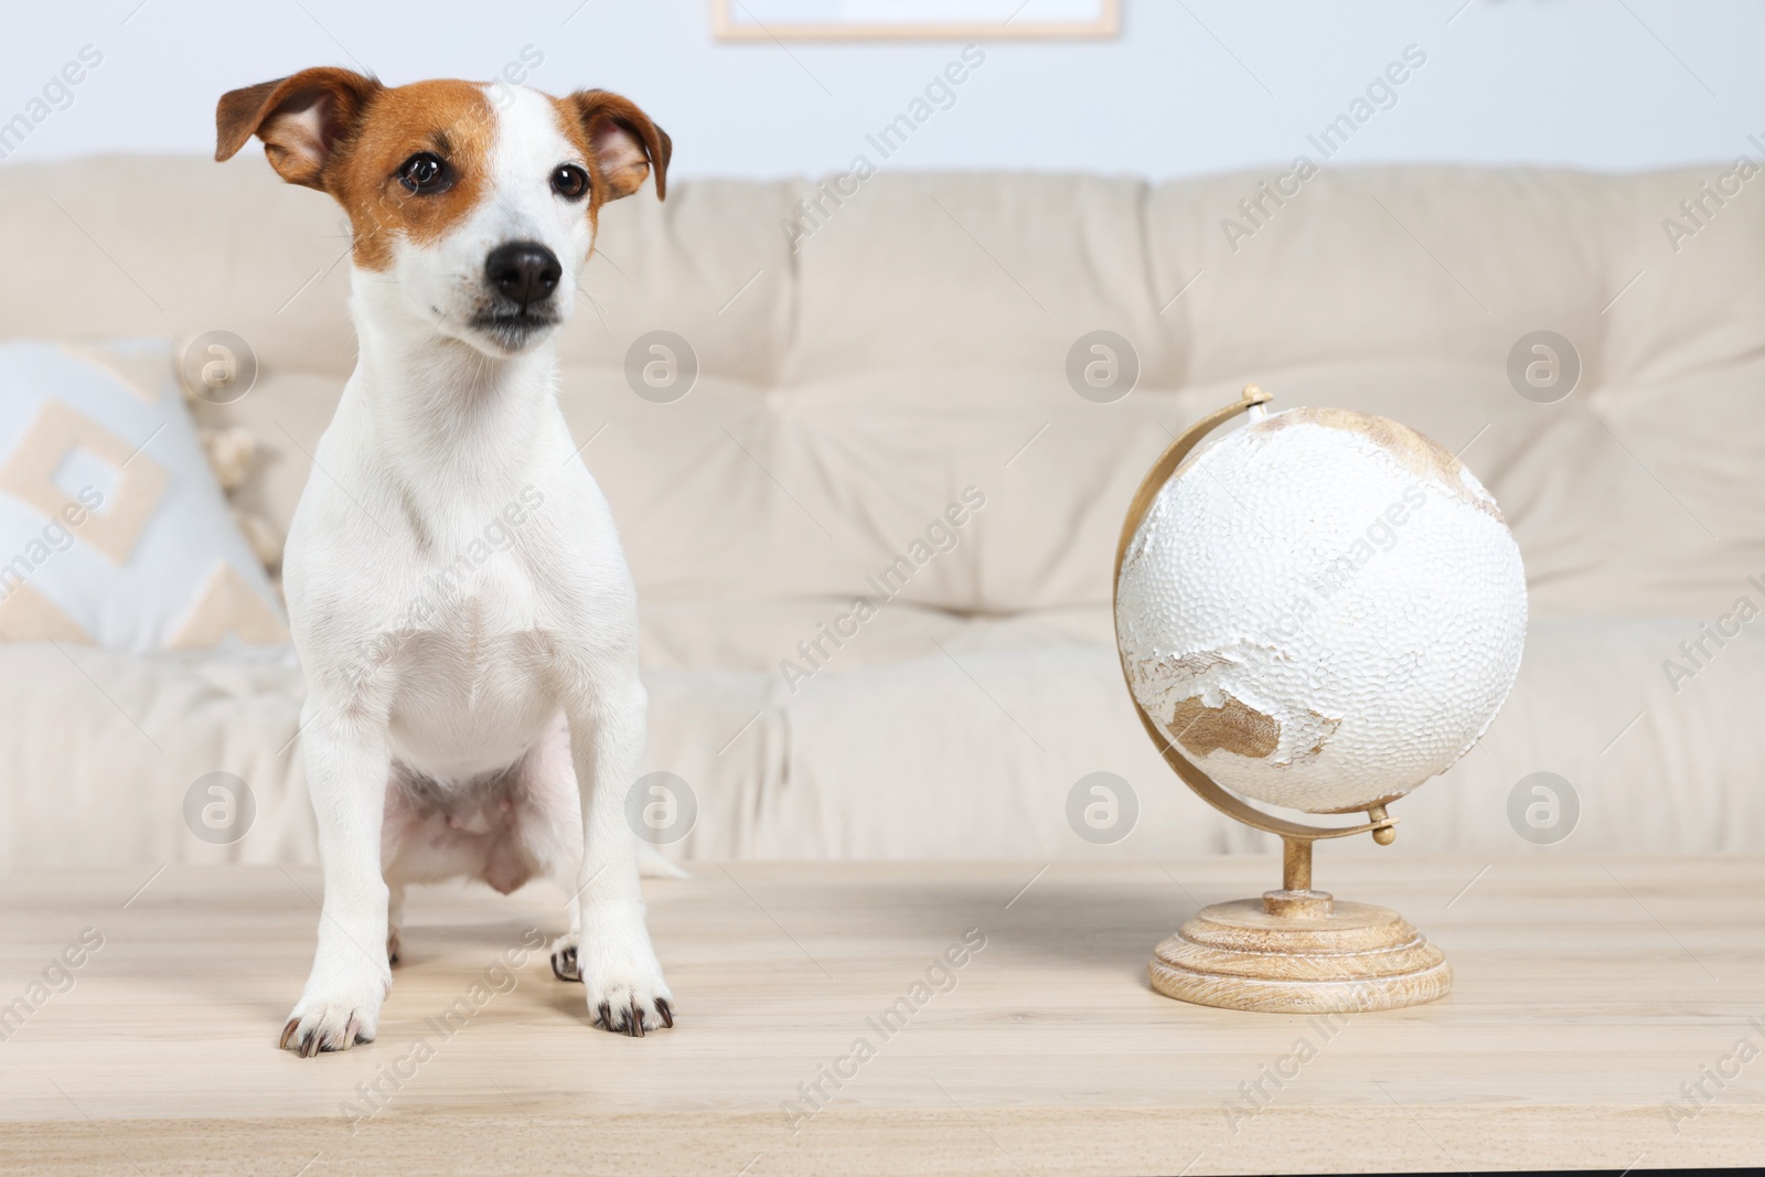
[[[1121,565],[1135,699],[1218,783],[1363,810],[1451,768],[1520,671],[1502,512],[1407,425],[1297,408],[1193,455]]]

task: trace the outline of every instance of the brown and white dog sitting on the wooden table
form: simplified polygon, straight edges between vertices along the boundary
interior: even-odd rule
[[[604,90],[332,67],[222,95],[215,159],[252,136],[348,214],[358,337],[284,556],[325,902],[279,1045],[372,1041],[404,886],[461,875],[558,879],[552,971],[593,1025],[672,1027],[625,817],[648,706],[635,588],[552,342],[600,206],[651,175],[665,198],[672,145]]]

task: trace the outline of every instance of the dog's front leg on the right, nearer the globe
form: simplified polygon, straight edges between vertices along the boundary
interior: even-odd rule
[[[637,882],[637,833],[625,819],[625,794],[644,762],[648,699],[634,669],[628,681],[593,692],[570,711],[570,759],[582,796],[577,969],[595,1025],[641,1038],[674,1025]]]

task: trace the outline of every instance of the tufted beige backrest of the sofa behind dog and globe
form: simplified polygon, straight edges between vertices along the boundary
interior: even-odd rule
[[[1753,187],[1723,166],[681,180],[604,210],[561,402],[651,600],[874,595],[974,487],[902,596],[1105,603],[1140,475],[1255,381],[1463,448],[1536,614],[1714,616],[1765,574]],[[286,524],[355,356],[328,198],[251,152],[7,166],[0,247],[4,335],[245,337],[258,386],[203,415],[258,434],[247,496]],[[699,367],[667,404],[627,381],[657,330]],[[1138,362],[1110,404],[1068,379],[1096,330]],[[1507,372],[1537,330],[1580,355],[1555,404]]]

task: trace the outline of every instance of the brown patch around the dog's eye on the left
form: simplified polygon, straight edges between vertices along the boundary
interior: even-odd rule
[[[383,90],[372,116],[325,169],[325,191],[344,206],[355,229],[355,263],[385,270],[401,236],[429,245],[459,228],[491,189],[494,136],[491,101],[469,81]],[[439,162],[434,191],[413,191],[411,176],[401,171],[422,157]]]

